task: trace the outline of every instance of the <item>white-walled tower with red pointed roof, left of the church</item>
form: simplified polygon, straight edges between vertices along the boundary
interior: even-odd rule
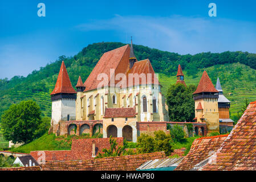
[[[51,130],[58,133],[60,121],[75,120],[76,91],[72,87],[64,61],[60,67],[54,90],[51,93]]]

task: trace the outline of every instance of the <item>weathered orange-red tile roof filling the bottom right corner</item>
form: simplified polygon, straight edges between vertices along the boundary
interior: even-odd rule
[[[216,154],[202,170],[256,170],[256,102],[251,102]]]

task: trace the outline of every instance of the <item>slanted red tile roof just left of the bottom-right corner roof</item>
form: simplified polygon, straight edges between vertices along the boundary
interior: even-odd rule
[[[227,138],[227,135],[218,135],[214,137],[203,137],[194,140],[188,155],[182,160],[175,170],[190,170],[196,164],[209,158],[220,148],[222,142]]]

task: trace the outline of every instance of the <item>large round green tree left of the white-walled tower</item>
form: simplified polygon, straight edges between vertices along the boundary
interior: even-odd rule
[[[36,137],[35,131],[41,123],[40,114],[40,107],[35,101],[11,105],[1,118],[3,137],[13,143],[29,143]]]

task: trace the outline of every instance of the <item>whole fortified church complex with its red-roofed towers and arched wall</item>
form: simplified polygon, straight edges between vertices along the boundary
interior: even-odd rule
[[[178,65],[177,83],[185,84]],[[76,90],[72,87],[64,62],[51,93],[52,118],[49,133],[56,135],[103,134],[103,138],[124,137],[137,142],[141,133],[166,130],[168,106],[161,84],[149,59],[138,61],[133,46],[105,52],[83,83],[79,76]],[[229,119],[230,102],[223,95],[220,80],[216,88],[203,73],[194,92],[193,133],[224,132],[233,126]],[[220,119],[221,118],[221,119]],[[188,122],[186,122],[188,123]],[[186,124],[178,123],[186,129]]]

